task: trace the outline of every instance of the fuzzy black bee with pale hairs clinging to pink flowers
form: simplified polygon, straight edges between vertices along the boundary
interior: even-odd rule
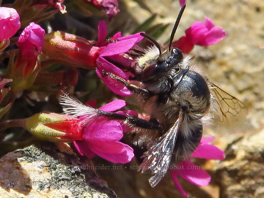
[[[152,187],[164,177],[171,162],[188,158],[197,148],[202,138],[203,119],[213,103],[218,105],[221,120],[227,114],[235,116],[245,109],[241,101],[199,74],[196,67],[189,64],[192,60],[189,55],[172,48],[184,9],[185,5],[177,17],[168,47],[162,48],[153,38],[141,33],[154,45],[144,52],[137,50],[141,56],[132,68],[135,76],[130,83],[112,73],[102,73],[134,92],[145,113],[150,115],[149,120],[93,109],[68,95],[60,99],[68,114],[85,114],[86,120],[104,115],[133,127],[135,145],[145,150],[141,156],[141,172],[152,172],[149,179]]]

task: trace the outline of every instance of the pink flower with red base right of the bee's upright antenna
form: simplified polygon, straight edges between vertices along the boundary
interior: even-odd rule
[[[186,31],[185,36],[172,43],[184,53],[189,53],[194,45],[208,46],[218,43],[226,37],[226,32],[221,27],[215,27],[214,23],[205,17],[205,23],[197,21]]]

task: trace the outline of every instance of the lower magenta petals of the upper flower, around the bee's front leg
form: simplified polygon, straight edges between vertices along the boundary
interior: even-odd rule
[[[123,84],[121,84],[120,82],[117,82],[116,80],[111,79],[110,77],[103,77],[102,76],[102,71],[104,70],[104,72],[110,72],[113,73],[125,80],[128,79],[128,77],[126,76],[126,74],[119,69],[118,67],[116,67],[115,65],[113,65],[112,63],[108,62],[107,60],[105,60],[102,57],[99,57],[97,59],[97,69],[96,69],[96,73],[99,76],[99,78],[101,78],[104,83],[107,85],[107,87],[109,89],[111,89],[112,92],[114,92],[115,94],[118,94],[120,96],[131,96],[133,93],[131,91],[129,91]]]

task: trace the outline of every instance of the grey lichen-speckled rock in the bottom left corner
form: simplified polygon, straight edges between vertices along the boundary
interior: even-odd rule
[[[10,152],[0,159],[0,197],[116,197],[87,166],[63,144],[45,142]]]

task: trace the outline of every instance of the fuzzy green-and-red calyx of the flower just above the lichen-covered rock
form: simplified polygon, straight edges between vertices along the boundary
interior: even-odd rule
[[[68,115],[39,113],[26,120],[26,129],[49,141],[83,140],[80,120]]]

